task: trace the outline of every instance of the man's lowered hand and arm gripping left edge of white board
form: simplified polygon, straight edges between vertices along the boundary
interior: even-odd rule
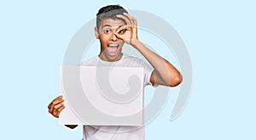
[[[59,115],[61,114],[61,110],[65,109],[65,106],[63,104],[64,99],[62,96],[58,96],[55,98],[49,105],[48,105],[48,111],[49,114],[55,116],[55,118],[59,118]],[[78,125],[65,125],[71,129],[75,128]]]

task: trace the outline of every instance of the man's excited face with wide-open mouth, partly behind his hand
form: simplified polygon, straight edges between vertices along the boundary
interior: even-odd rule
[[[115,34],[120,26],[125,25],[123,20],[102,20],[98,29],[95,28],[96,38],[101,42],[100,58],[106,61],[117,61],[122,57],[124,41]]]

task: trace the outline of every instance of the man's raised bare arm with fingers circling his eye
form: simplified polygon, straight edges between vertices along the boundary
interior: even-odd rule
[[[124,19],[127,25],[120,27],[115,35],[136,48],[154,67],[154,71],[150,76],[150,82],[169,87],[177,86],[183,79],[182,75],[170,62],[160,57],[157,53],[152,52],[143,42],[139,41],[137,37],[137,20],[129,14],[119,14],[117,17]]]

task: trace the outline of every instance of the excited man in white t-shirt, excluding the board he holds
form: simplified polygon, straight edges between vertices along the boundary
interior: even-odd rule
[[[128,14],[125,8],[119,5],[101,8],[96,14],[95,35],[101,42],[101,52],[81,65],[140,67],[144,70],[144,86],[176,87],[182,81],[182,75],[172,64],[140,42],[137,36],[137,20]],[[122,53],[124,43],[136,48],[151,65],[142,59]],[[62,96],[55,98],[48,106],[49,113],[58,118],[61,110],[65,108],[63,102]],[[144,139],[144,127],[132,129],[128,126],[84,126],[84,140],[95,139],[141,140]]]

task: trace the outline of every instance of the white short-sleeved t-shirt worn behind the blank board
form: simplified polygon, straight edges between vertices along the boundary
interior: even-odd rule
[[[150,84],[154,68],[143,61],[126,54],[118,61],[108,62],[98,56],[82,63],[84,66],[137,67],[144,69],[144,87]],[[83,126],[84,140],[144,140],[144,126]]]

